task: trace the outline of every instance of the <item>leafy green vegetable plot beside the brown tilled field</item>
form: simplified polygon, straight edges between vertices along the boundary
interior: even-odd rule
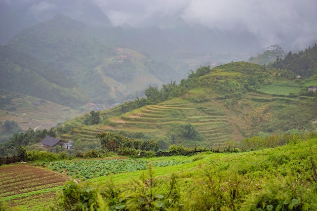
[[[172,166],[190,161],[158,161],[152,162],[153,167]],[[113,160],[63,160],[42,162],[35,165],[48,167],[50,170],[64,173],[72,178],[92,179],[110,174],[121,174],[146,170],[149,161],[141,159],[113,159]]]

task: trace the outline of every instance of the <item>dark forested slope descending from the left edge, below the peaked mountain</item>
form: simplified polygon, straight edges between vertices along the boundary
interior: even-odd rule
[[[62,72],[10,47],[0,46],[0,89],[78,106],[89,98]]]

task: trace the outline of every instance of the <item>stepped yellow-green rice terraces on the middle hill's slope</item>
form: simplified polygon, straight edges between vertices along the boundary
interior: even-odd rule
[[[204,144],[224,144],[232,139],[231,128],[223,106],[210,107],[197,105],[186,100],[172,100],[166,105],[147,105],[121,116],[108,118],[107,125],[83,126],[74,129],[73,135],[84,142],[96,141],[96,135],[106,131],[143,132],[155,134],[156,137],[165,136],[173,124],[190,122],[203,137]],[[61,138],[72,139],[70,136]],[[202,143],[203,144],[203,143]]]

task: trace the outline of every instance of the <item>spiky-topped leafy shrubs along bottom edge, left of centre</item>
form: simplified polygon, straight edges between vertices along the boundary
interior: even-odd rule
[[[121,190],[112,180],[100,190],[89,183],[67,183],[59,197],[59,210],[183,210],[178,191],[178,177],[173,174],[166,194],[159,194],[153,165],[148,163],[148,174],[134,179],[131,187]],[[100,209],[102,207],[102,209]]]

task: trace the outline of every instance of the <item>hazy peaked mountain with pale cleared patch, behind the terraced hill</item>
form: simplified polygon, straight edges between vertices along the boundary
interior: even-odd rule
[[[9,46],[76,81],[89,101],[113,104],[133,99],[148,85],[161,85],[171,78],[169,65],[155,65],[143,54],[123,48],[120,33],[57,15],[21,31]]]

